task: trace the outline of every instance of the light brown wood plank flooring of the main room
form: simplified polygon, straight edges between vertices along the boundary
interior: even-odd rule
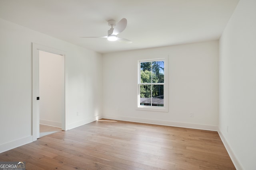
[[[101,119],[0,153],[28,170],[235,170],[217,132]]]

